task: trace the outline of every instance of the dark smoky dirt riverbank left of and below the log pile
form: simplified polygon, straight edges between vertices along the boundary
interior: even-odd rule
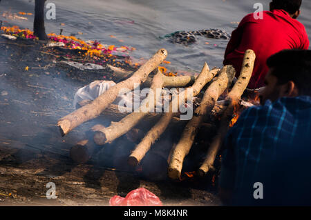
[[[211,178],[153,181],[137,170],[111,166],[125,159],[113,157],[111,149],[120,154],[120,148],[133,148],[120,146],[122,138],[88,163],[74,163],[68,157],[70,148],[96,121],[62,138],[57,120],[74,110],[78,88],[114,79],[111,70],[83,72],[60,66],[56,50],[52,53],[33,41],[0,38],[0,51],[0,206],[109,206],[111,197],[141,187],[164,205],[221,205]],[[55,183],[57,199],[46,199],[49,182]]]

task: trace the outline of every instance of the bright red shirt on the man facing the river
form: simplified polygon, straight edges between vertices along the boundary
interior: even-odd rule
[[[263,19],[255,19],[254,14],[248,14],[232,32],[225,52],[224,65],[234,66],[238,77],[245,51],[254,50],[256,61],[248,88],[260,88],[265,86],[267,58],[285,49],[308,48],[309,39],[305,27],[296,19],[292,19],[285,10],[265,11]]]

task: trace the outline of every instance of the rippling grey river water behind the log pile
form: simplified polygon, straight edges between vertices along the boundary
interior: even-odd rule
[[[177,30],[219,28],[229,33],[238,21],[254,12],[258,0],[53,0],[56,20],[46,20],[46,32],[77,34],[81,39],[99,40],[115,46],[132,46],[136,59],[149,58],[160,48],[169,52],[169,69],[198,72],[205,61],[221,66],[226,40],[200,39],[193,46],[169,43],[160,36]],[[268,10],[270,0],[261,0]],[[2,0],[0,12],[32,12],[34,0]],[[304,1],[299,17],[311,36],[311,1]],[[28,21],[6,20],[4,26],[18,25],[32,29],[33,15]],[[78,34],[78,32],[80,32]],[[83,33],[83,34],[81,34]],[[111,37],[113,35],[113,37]]]

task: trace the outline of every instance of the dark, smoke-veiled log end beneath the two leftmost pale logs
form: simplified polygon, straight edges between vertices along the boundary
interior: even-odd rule
[[[92,132],[96,132],[104,128],[102,125],[93,126],[91,129]],[[93,140],[82,140],[79,141],[75,146],[70,149],[70,158],[73,159],[76,163],[86,163],[95,150],[95,143]]]

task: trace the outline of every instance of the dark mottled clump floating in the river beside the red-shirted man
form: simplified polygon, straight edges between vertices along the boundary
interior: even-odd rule
[[[224,39],[229,40],[231,35],[227,32],[219,29],[208,29],[198,31],[177,31],[172,34],[167,34],[161,38],[168,38],[171,43],[180,43],[185,46],[189,46],[192,43],[196,43],[197,36],[207,37],[211,39]]]

